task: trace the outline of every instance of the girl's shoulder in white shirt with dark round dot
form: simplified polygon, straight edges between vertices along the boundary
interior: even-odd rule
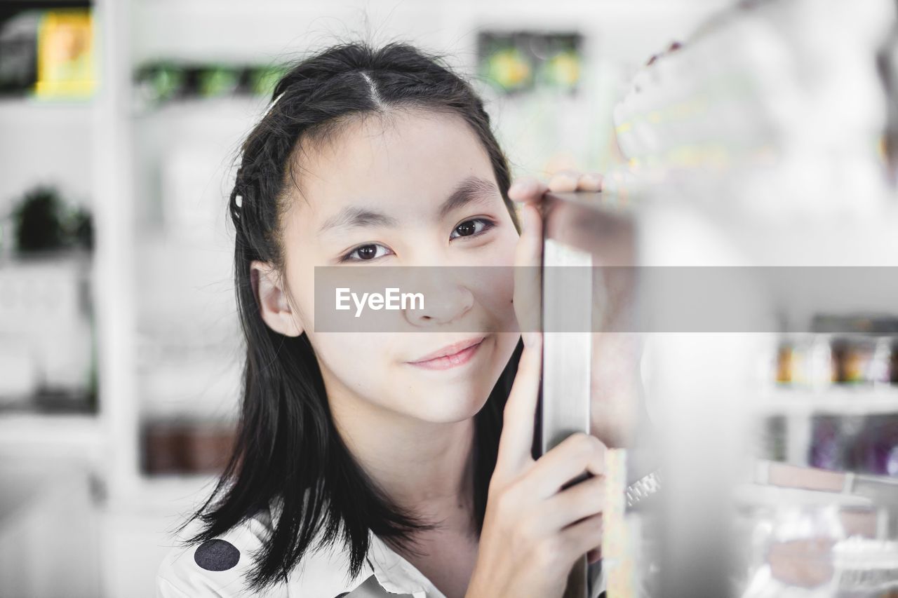
[[[191,526],[187,532],[197,530]],[[248,580],[255,565],[254,555],[267,541],[270,530],[271,512],[263,509],[213,540],[170,550],[156,576],[156,598],[330,598],[358,585],[357,579],[348,576],[348,555],[341,546],[317,546],[304,556],[286,582],[265,592],[251,591]]]

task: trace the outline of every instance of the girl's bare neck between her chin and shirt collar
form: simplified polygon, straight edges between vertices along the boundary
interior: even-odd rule
[[[329,391],[329,401],[349,452],[393,502],[444,529],[472,529],[474,418],[425,422],[350,393]]]

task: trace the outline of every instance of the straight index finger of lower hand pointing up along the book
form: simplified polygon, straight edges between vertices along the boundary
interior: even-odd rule
[[[524,345],[515,382],[508,393],[494,476],[509,479],[533,463],[531,448],[541,370],[542,339],[536,335],[535,340]]]

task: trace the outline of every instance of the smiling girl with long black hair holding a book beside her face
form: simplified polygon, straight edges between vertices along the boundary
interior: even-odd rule
[[[566,172],[509,188],[480,98],[409,45],[295,66],[229,202],[247,347],[236,449],[158,595],[559,596],[577,558],[597,560],[604,445],[574,435],[533,460],[541,336],[513,331],[524,288],[439,280],[397,333],[329,334],[313,275],[539,265],[542,194],[600,185]],[[459,322],[479,332],[450,334]]]

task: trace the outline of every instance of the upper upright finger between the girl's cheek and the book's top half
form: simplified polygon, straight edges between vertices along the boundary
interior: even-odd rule
[[[542,216],[536,206],[522,207],[521,237],[515,247],[515,291],[512,303],[518,330],[524,335],[524,344],[533,332],[541,330],[541,265],[542,265]]]

